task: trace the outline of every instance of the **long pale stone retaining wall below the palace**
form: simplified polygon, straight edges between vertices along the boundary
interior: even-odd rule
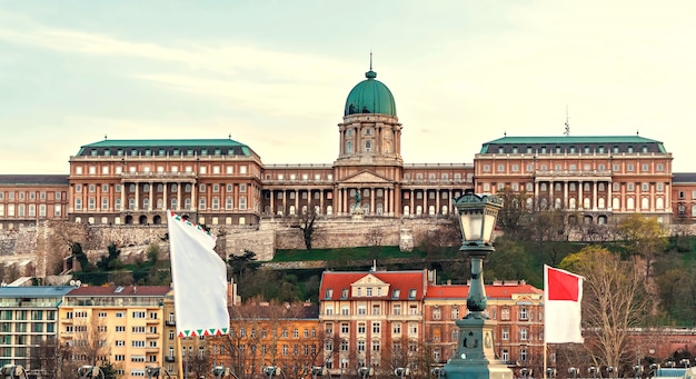
[[[379,245],[399,246],[406,251],[447,222],[450,221],[429,218],[317,220],[312,247],[325,249]],[[146,259],[151,243],[159,245],[161,259],[168,259],[166,233],[166,226],[89,226],[47,221],[18,231],[0,231],[0,263],[18,265],[30,260],[36,273],[23,275],[41,278],[56,275],[71,255],[70,241],[79,242],[93,261],[107,255],[111,243],[121,249],[125,261]],[[253,227],[212,226],[211,233],[219,239],[217,250],[223,258],[249,250],[257,255],[259,261],[268,261],[277,249],[305,249],[302,231],[282,219],[264,220]]]

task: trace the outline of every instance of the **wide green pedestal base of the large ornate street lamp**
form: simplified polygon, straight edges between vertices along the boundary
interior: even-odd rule
[[[496,323],[481,318],[456,321],[459,345],[445,365],[447,379],[513,379],[513,370],[495,356]]]

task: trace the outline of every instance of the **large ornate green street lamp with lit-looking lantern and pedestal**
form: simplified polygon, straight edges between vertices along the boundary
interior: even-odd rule
[[[513,371],[496,358],[494,328],[496,322],[486,315],[486,288],[484,287],[484,259],[495,250],[493,230],[503,200],[494,196],[478,196],[471,190],[453,200],[459,226],[461,247],[459,251],[469,258],[471,281],[467,296],[468,315],[457,320],[459,340],[455,356],[445,365],[449,379],[513,379]]]

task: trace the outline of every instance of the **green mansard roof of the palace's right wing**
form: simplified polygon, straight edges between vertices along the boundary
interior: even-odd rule
[[[506,152],[515,146],[520,152],[527,147],[546,147],[553,149],[556,146],[569,147],[575,146],[578,150],[585,146],[604,147],[609,152],[614,146],[623,148],[633,146],[636,152],[643,146],[648,147],[649,152],[666,153],[663,142],[640,136],[540,136],[540,137],[503,137],[497,140],[486,142],[481,147],[480,153],[495,153],[497,148],[504,148]],[[536,150],[536,149],[535,149]],[[550,151],[549,151],[550,152]]]

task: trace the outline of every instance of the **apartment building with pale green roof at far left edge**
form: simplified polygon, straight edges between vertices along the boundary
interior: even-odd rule
[[[0,287],[0,366],[22,366],[31,375],[60,369],[42,361],[56,346],[58,307],[74,287]]]

